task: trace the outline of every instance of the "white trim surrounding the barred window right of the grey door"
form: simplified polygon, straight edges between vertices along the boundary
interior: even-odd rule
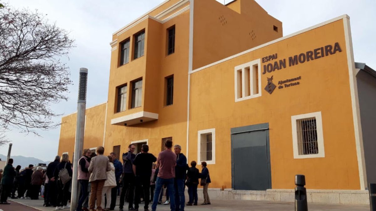
[[[298,135],[297,135],[297,131],[296,131],[296,121],[298,119],[306,119],[306,118],[312,118],[312,117],[316,118],[318,154],[299,155]],[[322,124],[321,112],[313,112],[313,113],[306,113],[306,114],[291,116],[291,127],[293,129],[292,131],[293,131],[294,159],[299,159],[299,158],[323,158],[323,157],[325,157],[323,124]]]

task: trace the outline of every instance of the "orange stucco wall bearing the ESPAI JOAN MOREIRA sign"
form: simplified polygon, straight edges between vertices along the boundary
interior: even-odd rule
[[[235,66],[274,53],[277,61],[288,59],[335,42],[342,52],[295,66],[287,61],[286,68],[261,75],[262,96],[235,102]],[[269,94],[264,87],[272,75],[276,85],[279,80],[302,79],[297,86]],[[230,128],[268,122],[272,188],[294,188],[296,174],[304,174],[311,189],[360,188],[343,20],[195,72],[190,87],[190,160],[197,159],[197,131],[216,131],[216,164],[208,165],[211,187],[231,187]],[[294,159],[291,116],[319,111],[325,157]]]

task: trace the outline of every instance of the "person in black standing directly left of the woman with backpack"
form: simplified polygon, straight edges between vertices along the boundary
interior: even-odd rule
[[[48,164],[47,170],[46,170],[46,175],[49,178],[48,186],[49,186],[49,191],[47,193],[47,200],[45,201],[45,206],[56,206],[56,199],[57,199],[57,183],[56,179],[54,177],[54,172],[56,169],[56,166],[58,166],[60,163],[60,156],[56,155],[55,160]]]

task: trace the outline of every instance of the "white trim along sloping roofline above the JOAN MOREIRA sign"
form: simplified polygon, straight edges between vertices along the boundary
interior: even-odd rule
[[[284,36],[284,37],[281,37],[281,38],[275,39],[275,40],[273,40],[273,41],[267,42],[267,43],[265,43],[265,44],[262,44],[262,45],[259,45],[259,46],[253,47],[253,48],[250,48],[250,49],[248,49],[248,50],[246,50],[246,51],[243,51],[243,52],[240,52],[240,53],[238,53],[238,54],[234,54],[234,55],[229,56],[229,57],[227,57],[227,58],[224,58],[224,59],[218,60],[217,62],[213,62],[213,63],[211,63],[211,64],[208,64],[208,65],[202,66],[202,67],[200,67],[200,68],[194,69],[194,70],[192,70],[192,71],[189,71],[188,74],[192,74],[192,73],[194,73],[194,72],[198,72],[198,71],[200,71],[200,70],[203,70],[203,69],[209,68],[209,67],[211,67],[211,66],[217,65],[217,64],[222,63],[222,62],[226,62],[227,60],[230,60],[230,59],[236,58],[236,57],[238,57],[238,56],[241,56],[241,55],[243,55],[243,54],[249,53],[249,52],[251,52],[251,51],[257,50],[257,49],[259,49],[259,48],[263,48],[263,47],[265,47],[265,46],[268,46],[268,45],[274,44],[274,43],[276,43],[276,42],[279,42],[279,41],[282,41],[282,40],[285,40],[285,39],[291,38],[291,37],[296,36],[296,35],[299,35],[299,34],[301,34],[301,33],[308,32],[308,31],[310,31],[310,30],[312,30],[312,29],[316,29],[316,28],[321,27],[321,26],[324,26],[324,25],[326,25],[326,24],[329,24],[329,23],[332,23],[332,22],[335,22],[335,21],[338,21],[338,20],[343,20],[343,19],[346,19],[346,18],[347,18],[347,19],[350,19],[350,17],[349,17],[348,15],[346,15],[346,14],[345,14],[345,15],[338,16],[338,17],[333,18],[333,19],[331,19],[331,20],[324,21],[324,22],[322,22],[322,23],[316,24],[316,25],[314,25],[314,26],[311,26],[311,27],[308,27],[308,28],[306,28],[306,29],[300,30],[300,31],[298,31],[298,32],[292,33],[292,34],[290,34],[290,35],[287,35],[287,36]]]

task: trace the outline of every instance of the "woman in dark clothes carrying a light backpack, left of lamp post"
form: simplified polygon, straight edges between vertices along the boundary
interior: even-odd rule
[[[69,186],[73,175],[72,164],[68,162],[68,154],[63,154],[60,163],[56,166],[54,177],[57,181],[58,200],[56,201],[56,209],[68,209]]]

